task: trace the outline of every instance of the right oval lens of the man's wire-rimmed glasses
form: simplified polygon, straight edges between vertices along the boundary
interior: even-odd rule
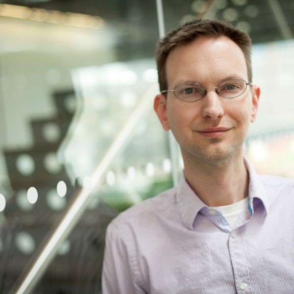
[[[219,94],[224,98],[235,98],[244,93],[246,82],[239,78],[233,78],[221,82],[218,86]]]

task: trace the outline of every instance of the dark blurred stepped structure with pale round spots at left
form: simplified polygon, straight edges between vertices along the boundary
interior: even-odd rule
[[[0,252],[1,294],[8,293],[24,274],[24,269],[26,271],[32,264],[79,190],[71,184],[64,166],[56,157],[75,111],[74,92],[55,92],[52,101],[56,109],[54,117],[30,122],[33,145],[4,150],[14,194],[6,203],[6,222],[0,227],[3,243]],[[64,181],[67,186],[63,197],[56,192],[59,181]],[[38,192],[34,204],[26,197],[30,187]],[[102,202],[89,208],[32,293],[100,293],[105,229],[117,214],[115,209]]]

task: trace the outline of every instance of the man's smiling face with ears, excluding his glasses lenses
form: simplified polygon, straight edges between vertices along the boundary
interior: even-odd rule
[[[227,37],[196,39],[171,51],[166,63],[169,89],[185,82],[216,87],[228,78],[247,80],[242,50]],[[260,90],[247,86],[233,99],[219,96],[215,89],[196,102],[184,102],[168,92],[158,95],[154,109],[165,130],[179,143],[183,159],[221,161],[243,154],[250,122],[254,122]]]

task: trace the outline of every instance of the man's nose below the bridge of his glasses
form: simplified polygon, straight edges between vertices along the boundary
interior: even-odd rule
[[[201,99],[202,116],[207,119],[216,120],[224,114],[222,100],[216,87],[205,88],[204,97]]]

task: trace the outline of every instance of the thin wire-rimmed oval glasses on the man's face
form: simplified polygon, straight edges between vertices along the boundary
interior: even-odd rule
[[[215,91],[223,98],[232,99],[242,95],[247,85],[252,86],[252,83],[247,83],[241,78],[230,78],[222,81],[217,87],[204,88],[197,83],[184,83],[176,86],[173,90],[161,91],[161,93],[173,92],[176,98],[185,102],[196,102],[203,98],[207,89],[215,89]]]

